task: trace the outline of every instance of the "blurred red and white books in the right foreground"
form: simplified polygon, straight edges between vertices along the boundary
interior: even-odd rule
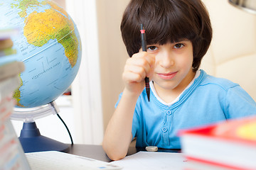
[[[256,116],[183,130],[188,169],[256,169]]]

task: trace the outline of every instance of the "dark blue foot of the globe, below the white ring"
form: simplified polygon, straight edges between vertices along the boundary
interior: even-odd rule
[[[70,145],[58,142],[40,134],[36,123],[23,123],[21,135],[18,137],[25,153],[42,151],[68,152]]]

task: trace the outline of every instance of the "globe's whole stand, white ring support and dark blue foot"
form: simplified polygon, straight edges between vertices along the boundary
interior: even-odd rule
[[[14,113],[11,115],[11,118],[13,120],[21,120],[21,118],[23,118],[23,128],[18,139],[20,140],[25,153],[42,151],[69,151],[69,145],[41,135],[36,126],[36,122],[34,121],[36,118],[45,117],[46,115],[58,112],[58,107],[54,101],[46,106],[37,108],[14,108]],[[25,120],[24,117],[26,117]]]

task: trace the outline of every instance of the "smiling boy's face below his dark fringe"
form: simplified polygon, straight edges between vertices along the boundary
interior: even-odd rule
[[[156,57],[153,76],[156,91],[183,91],[195,76],[192,70],[192,42],[182,40],[164,45],[147,45],[147,47],[147,52]]]

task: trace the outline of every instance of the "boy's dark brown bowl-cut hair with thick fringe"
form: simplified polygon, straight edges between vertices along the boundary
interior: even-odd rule
[[[142,46],[141,23],[148,45],[191,40],[193,71],[198,70],[212,39],[210,18],[201,0],[131,0],[121,23],[122,38],[130,57]]]

